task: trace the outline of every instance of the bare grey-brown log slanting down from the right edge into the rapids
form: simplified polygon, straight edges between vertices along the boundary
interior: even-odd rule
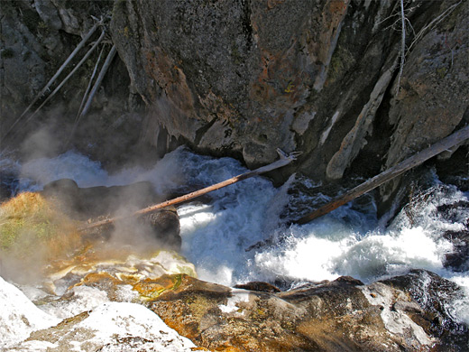
[[[364,193],[374,190],[376,187],[381,186],[387,181],[391,181],[395,177],[399,176],[405,171],[418,166],[422,162],[427,161],[428,159],[436,156],[439,153],[445,152],[449,148],[455,146],[456,144],[461,144],[465,140],[469,139],[469,125],[455,132],[454,134],[448,135],[446,138],[440,140],[436,144],[430,145],[427,149],[424,149],[421,152],[418,152],[403,162],[398,163],[397,165],[391,167],[390,169],[383,171],[382,173],[374,176],[372,179],[363,182],[362,184],[356,186],[354,189],[349,190],[342,196],[337,197],[336,199],[331,200],[326,203],[324,206],[317,208],[311,213],[305,215],[302,218],[299,218],[296,221],[293,221],[296,224],[307,224],[308,222],[314,220],[315,218],[322,217],[327,213],[335,210],[348,203],[349,201],[360,197]]]

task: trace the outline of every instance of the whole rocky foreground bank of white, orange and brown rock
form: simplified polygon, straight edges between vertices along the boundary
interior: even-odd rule
[[[174,273],[192,268],[170,254],[93,266],[56,276],[62,287],[75,282],[63,294],[36,296],[34,303],[48,319],[61,315],[51,319],[51,327],[29,322],[34,306],[2,321],[7,341],[14,324],[25,324],[32,332],[9,350],[150,351],[168,334],[167,327],[152,331],[157,317],[178,333],[171,332],[166,340],[166,350],[175,351],[194,350],[182,347],[193,346],[187,338],[198,350],[211,351],[464,351],[469,342],[467,326],[455,323],[448,310],[450,301],[464,300],[464,294],[455,283],[428,271],[368,285],[342,276],[279,292],[265,283],[229,288],[200,281],[195,272]],[[145,266],[146,273],[139,266]],[[169,273],[160,276],[164,270]],[[12,300],[4,287],[2,295]],[[126,328],[87,325],[99,314],[103,323]],[[135,331],[130,324],[142,329]],[[98,338],[107,330],[107,338]]]

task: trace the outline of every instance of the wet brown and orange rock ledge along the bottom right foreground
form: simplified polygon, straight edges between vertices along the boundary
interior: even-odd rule
[[[343,277],[277,293],[228,289],[182,275],[148,282],[146,297],[160,293],[146,304],[179,334],[210,350],[463,351],[464,324],[438,306],[437,291],[426,292],[428,301],[417,297],[423,292],[415,287],[426,275],[457,296],[454,284],[423,271],[369,285]],[[434,320],[428,319],[435,314],[453,321],[453,329],[432,328]]]

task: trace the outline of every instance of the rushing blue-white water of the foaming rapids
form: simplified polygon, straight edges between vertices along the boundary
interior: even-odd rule
[[[152,181],[155,189],[177,190],[185,184],[202,188],[246,171],[230,158],[214,159],[180,148],[152,169],[131,168],[109,175],[98,162],[78,153],[36,159],[21,166],[20,189],[39,190],[49,181],[71,178],[81,187]],[[469,273],[443,266],[452,244],[442,234],[460,230],[468,214],[451,221],[437,206],[468,199],[468,194],[439,184],[425,198],[404,209],[390,227],[382,228],[375,214],[350,206],[314,222],[284,227],[280,211],[288,203],[289,182],[275,189],[256,177],[210,193],[212,201],[195,201],[178,209],[182,255],[196,265],[198,277],[234,285],[249,281],[288,279],[290,282],[333,280],[351,275],[365,283],[409,269],[428,269],[461,285],[469,295]],[[246,251],[260,241],[278,239]],[[454,302],[454,315],[469,322],[469,303]]]

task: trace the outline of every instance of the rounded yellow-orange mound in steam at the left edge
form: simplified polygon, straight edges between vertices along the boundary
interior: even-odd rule
[[[16,282],[41,278],[44,266],[82,245],[77,223],[39,193],[0,205],[0,273]]]

